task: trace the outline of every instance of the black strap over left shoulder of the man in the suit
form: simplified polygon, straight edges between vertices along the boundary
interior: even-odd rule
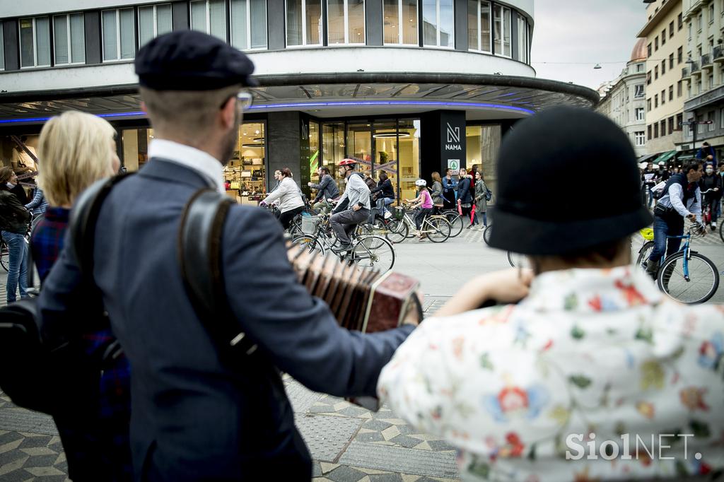
[[[93,278],[93,245],[95,245],[96,222],[103,201],[108,197],[114,185],[134,173],[118,174],[110,179],[94,182],[80,193],[70,211],[68,229],[71,235],[71,248],[75,254],[78,268],[83,276]]]

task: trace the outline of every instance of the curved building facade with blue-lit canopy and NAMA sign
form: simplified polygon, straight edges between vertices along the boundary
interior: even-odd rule
[[[147,161],[133,59],[170,30],[202,30],[247,52],[259,86],[227,166],[253,203],[275,169],[306,187],[316,167],[358,158],[410,198],[418,177],[479,164],[495,185],[502,134],[550,106],[594,106],[594,90],[540,80],[533,0],[56,0],[0,11],[0,158],[32,146],[66,109],[119,132],[126,169]],[[41,160],[42,164],[42,160]]]

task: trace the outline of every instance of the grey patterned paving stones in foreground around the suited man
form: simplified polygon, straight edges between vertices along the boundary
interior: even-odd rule
[[[427,297],[427,314],[448,297]],[[284,379],[295,421],[313,457],[313,481],[457,481],[455,449],[416,431],[383,406],[373,413]],[[0,481],[69,481],[53,420],[0,392]]]

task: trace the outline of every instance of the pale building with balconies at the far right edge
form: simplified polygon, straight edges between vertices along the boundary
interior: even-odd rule
[[[683,0],[682,8],[686,67],[681,78],[686,101],[681,148],[695,150],[706,140],[720,151],[724,148],[724,0]]]

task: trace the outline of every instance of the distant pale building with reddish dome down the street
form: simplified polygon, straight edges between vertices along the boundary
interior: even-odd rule
[[[631,59],[621,74],[599,90],[601,101],[596,111],[626,132],[637,156],[647,154],[646,142],[646,61],[647,40],[639,38]]]

